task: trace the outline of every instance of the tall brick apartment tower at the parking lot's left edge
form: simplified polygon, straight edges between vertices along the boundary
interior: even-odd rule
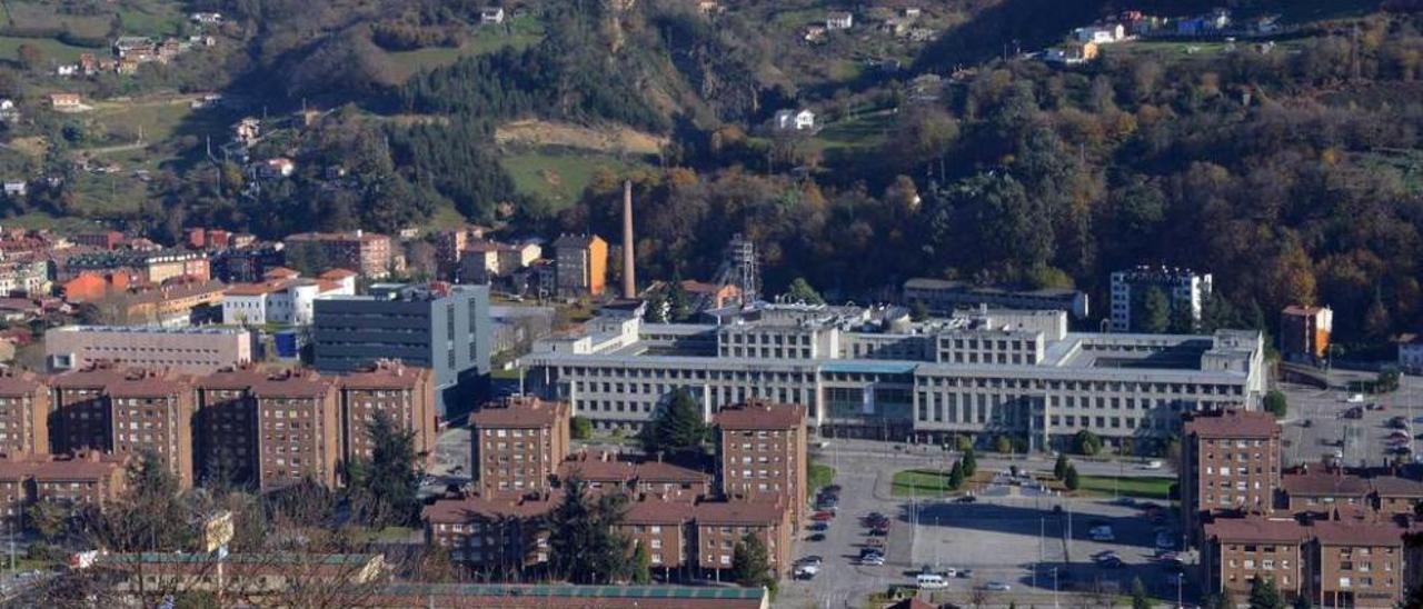
[[[790,505],[800,529],[808,497],[805,407],[750,400],[723,408],[714,424],[720,433],[717,477],[731,499]]]

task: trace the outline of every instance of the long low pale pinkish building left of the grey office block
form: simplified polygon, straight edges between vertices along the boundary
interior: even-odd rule
[[[252,333],[232,327],[63,326],[44,333],[51,371],[108,361],[208,374],[252,361]]]

